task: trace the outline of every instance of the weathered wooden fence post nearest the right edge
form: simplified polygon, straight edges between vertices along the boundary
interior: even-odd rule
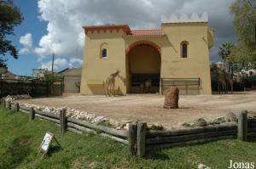
[[[243,110],[238,115],[238,138],[247,141],[247,110]]]

